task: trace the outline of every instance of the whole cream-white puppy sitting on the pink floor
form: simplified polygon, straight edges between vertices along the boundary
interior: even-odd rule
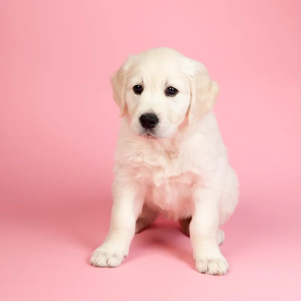
[[[199,272],[225,274],[220,226],[236,207],[238,180],[212,112],[218,84],[204,65],[170,48],[130,56],[111,81],[123,117],[114,201],[91,264],[119,266],[134,234],[161,213],[190,235]]]

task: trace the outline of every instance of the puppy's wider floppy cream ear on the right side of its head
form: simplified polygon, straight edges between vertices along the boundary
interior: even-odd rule
[[[213,81],[207,68],[194,60],[190,60],[190,106],[188,109],[189,124],[209,113],[219,93],[219,85]]]

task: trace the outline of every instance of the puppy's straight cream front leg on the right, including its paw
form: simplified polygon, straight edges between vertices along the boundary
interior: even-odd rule
[[[219,199],[219,193],[213,189],[197,189],[193,197],[194,212],[190,223],[196,269],[211,275],[223,275],[228,271],[228,263],[217,240]]]

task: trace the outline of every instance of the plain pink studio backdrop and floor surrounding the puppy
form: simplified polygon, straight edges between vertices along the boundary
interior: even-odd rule
[[[147,3],[147,4],[146,4]],[[301,5],[295,0],[1,1],[0,299],[297,299]],[[170,46],[220,84],[215,112],[241,183],[230,271],[195,271],[158,222],[117,269],[89,266],[109,225],[118,109],[109,76]]]

